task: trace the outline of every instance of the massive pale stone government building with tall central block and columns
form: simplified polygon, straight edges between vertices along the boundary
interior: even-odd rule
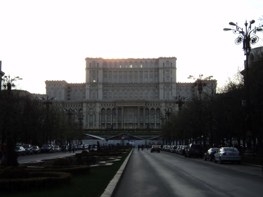
[[[176,82],[176,59],[86,58],[85,83],[47,80],[46,94],[83,115],[83,129],[158,129],[164,109],[178,110],[173,96],[198,94],[194,81]]]

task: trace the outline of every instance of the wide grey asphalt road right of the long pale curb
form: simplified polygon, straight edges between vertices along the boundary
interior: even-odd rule
[[[114,197],[263,196],[262,168],[134,149]]]

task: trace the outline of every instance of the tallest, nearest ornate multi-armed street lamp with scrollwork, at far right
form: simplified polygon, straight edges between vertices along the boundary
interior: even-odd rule
[[[263,25],[256,27],[255,28],[251,28],[251,25],[255,23],[255,20],[251,20],[249,22],[249,26],[248,23],[246,21],[245,23],[245,27],[246,29],[243,30],[243,28],[237,26],[237,23],[233,23],[230,22],[229,24],[232,26],[236,26],[236,28],[234,29],[230,29],[230,28],[224,28],[224,31],[229,31],[231,30],[234,34],[240,34],[236,39],[235,39],[235,44],[241,44],[243,43],[243,51],[244,51],[244,55],[246,56],[246,64],[245,64],[245,70],[246,70],[246,77],[245,77],[245,86],[246,86],[246,107],[247,107],[247,115],[248,115],[248,120],[247,120],[247,135],[249,136],[249,143],[248,143],[248,147],[246,152],[248,154],[252,153],[251,151],[251,140],[250,140],[250,123],[249,123],[249,111],[250,111],[250,95],[249,95],[249,65],[248,65],[248,58],[249,58],[249,54],[250,54],[250,50],[251,50],[251,46],[250,44],[256,44],[259,41],[259,37],[257,37],[255,34],[256,32],[261,32]],[[253,35],[253,36],[252,36]],[[243,101],[244,102],[244,101]]]

